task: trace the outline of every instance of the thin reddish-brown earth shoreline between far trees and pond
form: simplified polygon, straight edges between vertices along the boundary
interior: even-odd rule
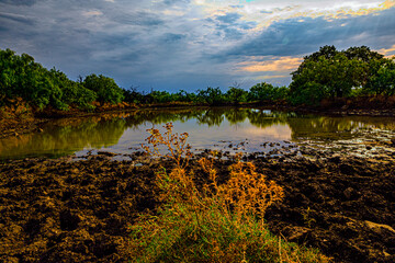
[[[347,102],[345,102],[347,103]],[[242,103],[242,104],[225,104],[217,106],[210,106],[208,104],[190,104],[190,103],[173,103],[173,104],[150,104],[139,105],[135,104],[120,104],[112,106],[98,107],[94,112],[84,112],[74,108],[72,111],[57,111],[47,108],[43,112],[26,112],[19,115],[11,115],[0,122],[0,139],[29,134],[32,132],[41,132],[41,126],[50,122],[52,119],[61,118],[83,118],[89,116],[101,116],[114,113],[132,113],[138,111],[157,111],[157,110],[174,110],[174,108],[211,108],[211,107],[237,107],[237,108],[260,108],[280,112],[296,112],[302,114],[329,115],[329,116],[372,116],[372,117],[395,117],[395,108],[356,108],[353,106],[346,106],[340,104],[336,107],[329,106],[292,106],[284,103]]]

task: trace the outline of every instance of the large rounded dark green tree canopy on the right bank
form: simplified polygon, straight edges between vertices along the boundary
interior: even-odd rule
[[[394,59],[366,46],[338,52],[324,46],[304,57],[292,72],[290,101],[294,104],[318,104],[325,98],[354,94],[394,94]]]

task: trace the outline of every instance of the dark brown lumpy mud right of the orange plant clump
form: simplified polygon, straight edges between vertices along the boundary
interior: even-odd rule
[[[335,262],[395,261],[393,159],[335,155],[256,164],[285,191],[266,215],[271,231],[319,248]]]

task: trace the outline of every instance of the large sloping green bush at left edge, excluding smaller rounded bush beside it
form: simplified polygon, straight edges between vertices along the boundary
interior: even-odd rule
[[[22,98],[27,103],[44,108],[48,105],[58,110],[68,110],[70,104],[91,108],[97,94],[71,81],[59,70],[47,70],[22,54],[10,49],[0,50],[0,105],[4,101]]]

